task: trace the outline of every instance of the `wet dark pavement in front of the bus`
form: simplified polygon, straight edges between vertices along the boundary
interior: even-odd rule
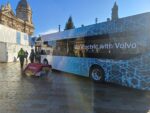
[[[148,113],[150,92],[63,72],[21,75],[18,63],[0,63],[0,113]]]

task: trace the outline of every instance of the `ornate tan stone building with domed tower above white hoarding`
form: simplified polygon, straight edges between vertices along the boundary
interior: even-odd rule
[[[13,12],[10,3],[0,8],[0,24],[16,29],[18,31],[32,35],[34,25],[32,23],[32,10],[27,0],[20,0]]]

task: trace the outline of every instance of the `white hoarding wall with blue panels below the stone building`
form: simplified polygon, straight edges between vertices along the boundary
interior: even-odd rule
[[[15,62],[20,48],[30,53],[29,35],[0,24],[0,62]]]

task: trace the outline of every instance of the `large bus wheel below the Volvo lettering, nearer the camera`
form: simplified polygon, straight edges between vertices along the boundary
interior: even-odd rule
[[[104,82],[104,70],[99,66],[90,69],[90,78],[94,82]]]

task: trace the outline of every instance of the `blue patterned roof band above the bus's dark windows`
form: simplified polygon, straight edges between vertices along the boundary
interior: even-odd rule
[[[68,38],[87,37],[102,34],[119,33],[124,31],[150,30],[150,12],[134,16],[111,20],[76,29],[42,35],[44,41],[60,40]]]

